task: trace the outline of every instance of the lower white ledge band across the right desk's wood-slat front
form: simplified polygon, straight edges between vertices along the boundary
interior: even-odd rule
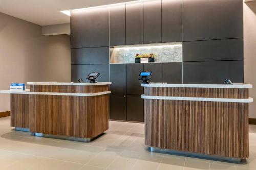
[[[227,98],[189,98],[189,97],[174,97],[174,96],[150,96],[141,95],[142,99],[153,100],[174,100],[174,101],[202,101],[202,102],[231,102],[231,103],[252,103],[253,99],[227,99]]]

